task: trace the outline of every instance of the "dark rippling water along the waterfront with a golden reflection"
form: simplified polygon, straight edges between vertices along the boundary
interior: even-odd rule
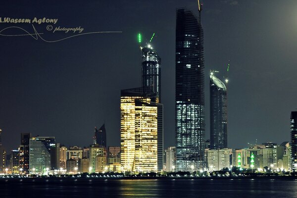
[[[297,198],[283,179],[1,179],[0,198]]]

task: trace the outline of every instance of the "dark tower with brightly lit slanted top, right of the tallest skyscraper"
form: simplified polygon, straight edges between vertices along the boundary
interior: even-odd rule
[[[227,148],[227,88],[210,75],[210,149]]]

